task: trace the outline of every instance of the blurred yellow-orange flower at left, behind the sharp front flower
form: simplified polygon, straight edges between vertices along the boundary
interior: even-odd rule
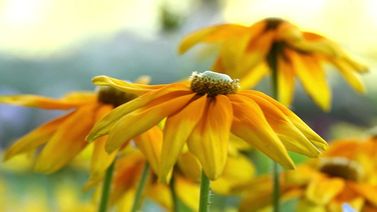
[[[148,77],[139,78],[147,83]],[[37,95],[5,95],[0,102],[48,110],[72,110],[69,114],[39,126],[16,141],[6,152],[5,160],[21,153],[34,153],[39,146],[45,145],[35,164],[37,172],[51,173],[64,167],[78,155],[88,142],[85,136],[95,122],[122,103],[136,98],[137,95],[120,92],[111,87],[100,87],[97,92],[73,92],[61,99],[45,98]],[[153,137],[153,136],[152,136]],[[115,158],[105,152],[107,136],[94,142],[91,157],[91,177],[103,174]],[[137,140],[140,140],[139,137]]]

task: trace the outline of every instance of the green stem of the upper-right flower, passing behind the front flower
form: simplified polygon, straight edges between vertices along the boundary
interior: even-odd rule
[[[278,61],[277,55],[279,54],[279,50],[282,48],[282,44],[278,42],[274,42],[272,45],[269,54],[267,55],[267,62],[269,67],[272,70],[271,76],[271,87],[272,87],[272,98],[279,101],[279,87],[278,87],[278,76],[277,76],[277,69],[278,69]],[[272,196],[272,201],[274,204],[274,212],[279,212],[279,196],[280,196],[280,186],[279,186],[279,164],[276,161],[273,161],[273,182],[274,182],[274,194]]]

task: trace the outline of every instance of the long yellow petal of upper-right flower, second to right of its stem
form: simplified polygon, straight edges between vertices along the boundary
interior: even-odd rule
[[[303,88],[313,101],[324,111],[331,107],[331,91],[325,78],[325,71],[313,54],[299,54],[285,49],[286,57],[291,59],[294,71]]]

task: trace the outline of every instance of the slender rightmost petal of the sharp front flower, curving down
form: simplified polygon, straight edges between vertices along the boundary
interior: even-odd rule
[[[243,90],[240,91],[238,94],[243,93],[258,95],[264,98],[265,100],[271,102],[272,105],[275,105],[275,107],[279,108],[279,110],[281,110],[286,115],[286,117],[288,117],[288,119],[291,120],[292,124],[294,124],[294,126],[296,126],[297,129],[299,129],[303,133],[303,135],[305,135],[306,138],[308,138],[309,141],[311,141],[311,143],[313,143],[315,146],[324,151],[327,150],[327,142],[323,140],[320,136],[318,136],[318,134],[316,134],[315,131],[313,131],[313,129],[311,129],[307,124],[305,124],[305,122],[303,122],[303,120],[301,120],[296,114],[294,114],[294,112],[284,107],[284,105],[282,105],[280,102],[277,102],[277,100],[274,100],[273,98],[270,98],[268,95],[265,95],[264,93],[261,93],[257,90]]]

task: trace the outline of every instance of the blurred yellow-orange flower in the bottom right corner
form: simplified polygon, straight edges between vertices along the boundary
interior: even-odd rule
[[[376,160],[365,158],[351,143],[330,144],[332,152],[325,153],[324,158],[282,173],[282,199],[300,197],[297,211],[341,212],[344,202],[356,211],[377,210],[377,183],[373,177]],[[240,211],[257,211],[272,204],[271,199],[260,201],[262,196],[272,196],[272,182],[263,181],[265,178],[250,183],[250,193],[241,202]],[[254,189],[255,184],[258,189]]]

